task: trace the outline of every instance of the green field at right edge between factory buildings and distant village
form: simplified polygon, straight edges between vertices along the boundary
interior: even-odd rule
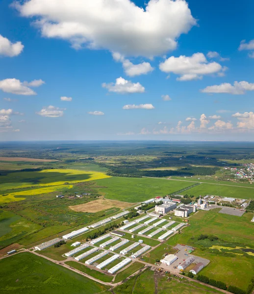
[[[223,197],[254,199],[253,188],[254,187],[245,188],[202,183],[196,187],[190,188],[186,191],[186,193],[194,196],[216,195]]]

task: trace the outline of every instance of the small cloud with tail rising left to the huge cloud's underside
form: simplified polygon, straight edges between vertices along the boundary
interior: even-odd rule
[[[142,62],[139,64],[133,64],[132,62],[130,62],[128,59],[124,58],[124,56],[118,52],[114,52],[112,55],[116,61],[122,62],[125,73],[128,76],[147,74],[147,73],[150,73],[154,70],[154,68],[151,66],[151,64],[149,62]]]

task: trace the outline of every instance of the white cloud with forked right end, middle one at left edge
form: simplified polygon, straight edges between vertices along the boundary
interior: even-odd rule
[[[40,85],[42,85],[44,82],[42,80],[34,80],[30,83],[23,83],[16,78],[6,78],[0,80],[0,90],[2,90],[5,93],[12,93],[16,95],[37,95],[32,89],[28,88],[28,85],[30,87],[38,87],[40,86],[39,83]]]

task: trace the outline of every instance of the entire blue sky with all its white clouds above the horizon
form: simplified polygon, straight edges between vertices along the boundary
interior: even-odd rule
[[[253,1],[62,2],[0,1],[1,141],[252,140]]]

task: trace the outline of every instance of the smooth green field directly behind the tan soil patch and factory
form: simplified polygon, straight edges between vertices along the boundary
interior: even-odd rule
[[[165,196],[191,185],[184,181],[126,177],[111,177],[97,180],[96,183],[105,187],[99,190],[105,198],[132,203],[155,196]]]

